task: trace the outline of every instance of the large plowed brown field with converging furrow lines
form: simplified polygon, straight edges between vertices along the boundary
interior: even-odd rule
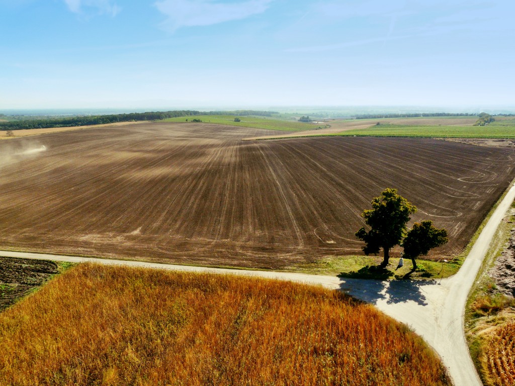
[[[428,138],[241,141],[266,133],[149,123],[2,142],[11,156],[0,157],[0,249],[281,268],[361,253],[359,215],[395,187],[419,208],[413,220],[449,231],[437,253],[451,255],[515,177],[512,149]]]

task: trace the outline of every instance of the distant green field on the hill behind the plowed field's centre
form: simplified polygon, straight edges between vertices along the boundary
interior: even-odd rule
[[[240,127],[252,127],[255,129],[267,130],[281,130],[281,131],[299,131],[315,128],[313,124],[303,122],[280,120],[269,117],[253,117],[253,116],[240,116],[241,122],[235,122],[233,115],[197,115],[189,117],[168,118],[166,122],[188,122],[192,119],[200,119],[203,123],[208,124],[222,124]],[[192,124],[193,125],[193,124]]]

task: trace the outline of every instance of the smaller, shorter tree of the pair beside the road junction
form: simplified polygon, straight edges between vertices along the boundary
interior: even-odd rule
[[[416,222],[402,242],[404,257],[411,259],[413,271],[415,271],[417,269],[417,262],[415,261],[417,257],[427,255],[431,249],[441,247],[448,241],[447,231],[435,228],[432,221]]]

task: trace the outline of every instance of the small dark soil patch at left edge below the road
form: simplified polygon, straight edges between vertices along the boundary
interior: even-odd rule
[[[58,272],[53,261],[0,257],[0,311]]]

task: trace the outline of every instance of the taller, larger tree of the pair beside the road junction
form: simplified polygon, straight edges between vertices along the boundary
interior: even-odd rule
[[[397,189],[387,188],[381,196],[372,200],[372,209],[364,210],[362,217],[370,226],[367,231],[364,226],[356,232],[356,237],[365,241],[363,252],[366,255],[384,251],[382,266],[388,265],[390,249],[399,245],[406,234],[406,224],[409,215],[417,212],[415,205],[397,194]]]

